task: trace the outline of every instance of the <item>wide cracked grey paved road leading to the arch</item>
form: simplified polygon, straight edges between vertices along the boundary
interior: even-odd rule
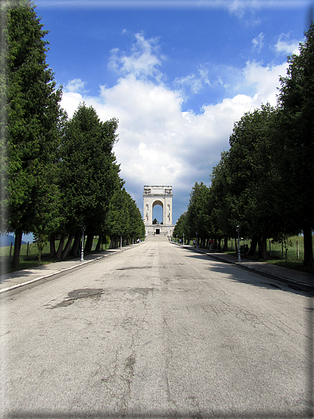
[[[1,299],[2,418],[308,418],[308,297],[166,241]]]

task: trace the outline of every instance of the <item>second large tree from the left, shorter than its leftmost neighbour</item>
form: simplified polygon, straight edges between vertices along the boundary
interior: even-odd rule
[[[115,189],[122,185],[112,152],[117,141],[117,120],[101,122],[96,111],[83,103],[65,127],[60,145],[59,185],[63,231],[101,233]]]

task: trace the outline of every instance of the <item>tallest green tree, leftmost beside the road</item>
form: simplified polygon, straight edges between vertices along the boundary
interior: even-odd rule
[[[47,31],[29,0],[8,1],[5,34],[6,196],[8,230],[15,232],[13,267],[17,267],[22,233],[41,234],[55,217],[53,178],[61,89],[55,89],[46,63]]]

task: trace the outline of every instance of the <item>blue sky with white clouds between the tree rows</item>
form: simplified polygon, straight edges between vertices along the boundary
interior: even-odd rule
[[[313,0],[37,0],[47,63],[69,117],[119,120],[114,152],[143,214],[143,186],[173,187],[173,223],[210,183],[233,124],[276,105]],[[162,208],[153,217],[162,221]]]

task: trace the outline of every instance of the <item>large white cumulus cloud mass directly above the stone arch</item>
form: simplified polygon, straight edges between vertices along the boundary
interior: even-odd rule
[[[261,63],[247,62],[242,70],[242,85],[250,86],[251,94],[235,94],[204,105],[196,113],[182,110],[183,91],[160,81],[160,63],[157,40],[137,34],[129,55],[112,52],[110,65],[119,72],[114,86],[100,86],[96,97],[65,91],[61,104],[70,116],[85,101],[96,109],[100,120],[117,117],[119,142],[115,153],[127,190],[141,209],[143,185],[171,184],[178,211],[174,217],[179,217],[195,181],[209,182],[221,151],[228,149],[234,122],[261,103],[275,105],[279,75],[285,74],[287,65],[263,67]],[[207,72],[201,70],[197,75],[199,83],[209,84]],[[181,84],[190,84],[197,92],[197,77],[187,76]],[[78,89],[82,84],[77,84]],[[70,82],[70,86],[74,85],[75,79]]]

